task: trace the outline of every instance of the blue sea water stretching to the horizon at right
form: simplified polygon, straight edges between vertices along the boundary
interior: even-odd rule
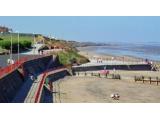
[[[109,43],[105,46],[86,47],[85,50],[103,55],[132,56],[160,61],[160,42]]]

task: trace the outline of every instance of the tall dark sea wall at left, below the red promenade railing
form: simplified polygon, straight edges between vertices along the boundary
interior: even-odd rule
[[[23,70],[14,70],[0,79],[0,103],[11,102],[21,86],[26,82],[29,74],[40,74],[47,69],[59,67],[61,64],[55,56],[45,56],[30,60],[22,65]]]

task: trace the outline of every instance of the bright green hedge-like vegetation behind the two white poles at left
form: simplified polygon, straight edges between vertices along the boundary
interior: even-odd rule
[[[12,45],[13,45],[13,50],[17,50],[17,45],[18,45],[18,35],[17,34],[12,34]],[[24,48],[29,48],[31,47],[33,41],[33,36],[32,35],[25,35],[25,34],[20,34],[19,36],[19,45],[20,49]],[[3,49],[10,49],[11,45],[11,34],[0,34],[0,47]]]

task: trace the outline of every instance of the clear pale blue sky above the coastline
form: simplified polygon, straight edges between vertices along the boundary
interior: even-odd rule
[[[83,42],[160,41],[160,17],[152,16],[0,16],[0,25],[22,33]]]

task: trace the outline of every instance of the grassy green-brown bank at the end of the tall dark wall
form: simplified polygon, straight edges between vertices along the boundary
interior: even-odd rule
[[[87,63],[88,59],[84,56],[79,55],[76,51],[62,51],[58,53],[59,61],[63,65],[78,63],[83,64]]]

